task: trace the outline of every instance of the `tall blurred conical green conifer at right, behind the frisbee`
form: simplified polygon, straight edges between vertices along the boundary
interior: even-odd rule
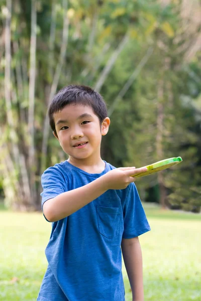
[[[185,69],[188,68],[187,66],[190,68],[186,53],[192,54],[190,51],[192,44],[187,43],[188,47],[183,46],[186,43],[185,29],[178,26],[183,23],[183,19],[178,16],[178,12],[175,16],[170,15],[171,25],[163,21],[161,29],[165,28],[166,36],[159,29],[155,31],[157,47],[151,58],[153,64],[149,61],[142,71],[146,82],[143,84],[142,79],[138,79],[139,84],[141,83],[141,91],[140,95],[135,95],[142,105],[139,109],[140,124],[134,124],[130,132],[126,133],[129,152],[125,163],[139,167],[164,158],[181,156],[183,163],[174,169],[174,173],[170,170],[160,172],[152,176],[152,180],[144,179],[138,185],[144,188],[157,186],[160,190],[162,207],[174,206],[174,202],[179,208],[198,211],[200,208],[198,189],[200,172],[197,153],[199,135],[195,132],[194,112],[189,108],[186,109],[182,101],[185,92],[190,99],[192,98],[191,93],[185,88],[189,82],[189,74],[186,74]],[[198,29],[193,27],[193,30],[196,32]],[[194,39],[193,37],[191,39]],[[152,93],[151,97],[147,90]],[[143,149],[143,156],[142,153],[138,153],[139,148]],[[192,164],[189,164],[190,162]],[[190,181],[186,181],[189,175]],[[178,179],[177,184],[175,179]],[[183,191],[182,196],[181,191]],[[166,198],[167,194],[169,196]]]

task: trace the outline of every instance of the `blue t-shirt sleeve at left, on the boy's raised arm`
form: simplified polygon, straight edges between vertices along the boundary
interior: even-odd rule
[[[42,210],[43,204],[52,198],[60,195],[61,193],[66,191],[66,184],[64,177],[58,167],[50,167],[48,168],[41,177],[41,185],[43,188],[43,192],[41,193],[42,197]]]

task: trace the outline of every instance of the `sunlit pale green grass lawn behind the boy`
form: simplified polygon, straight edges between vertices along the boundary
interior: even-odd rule
[[[145,211],[152,229],[140,237],[145,301],[200,301],[201,215],[161,211],[153,205],[146,205]],[[1,207],[0,227],[0,300],[36,300],[47,267],[44,250],[51,224],[41,213]],[[126,301],[131,301],[124,266],[123,274]]]

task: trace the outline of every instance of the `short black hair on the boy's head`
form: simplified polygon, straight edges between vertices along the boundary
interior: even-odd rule
[[[50,126],[55,134],[57,133],[53,115],[61,111],[68,104],[89,106],[98,117],[100,124],[108,116],[106,103],[98,92],[84,85],[66,86],[55,94],[48,108]]]

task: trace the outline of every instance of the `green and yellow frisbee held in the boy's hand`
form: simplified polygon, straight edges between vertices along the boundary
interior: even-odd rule
[[[133,177],[135,177],[135,178],[145,177],[145,176],[163,171],[163,170],[165,170],[165,169],[167,169],[167,168],[169,168],[173,165],[176,165],[180,162],[182,162],[181,157],[169,158],[169,159],[165,159],[165,160],[162,160],[162,161],[158,161],[158,162],[153,163],[151,165],[147,165],[146,166],[146,168],[147,168],[146,172],[134,175]]]

